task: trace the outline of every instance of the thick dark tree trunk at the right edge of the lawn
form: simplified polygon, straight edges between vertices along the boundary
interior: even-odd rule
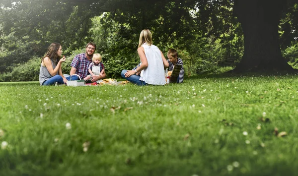
[[[282,57],[278,25],[286,0],[235,0],[244,34],[244,55],[233,72],[294,71]]]

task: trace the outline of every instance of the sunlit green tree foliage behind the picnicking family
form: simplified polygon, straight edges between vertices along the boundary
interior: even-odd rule
[[[188,75],[234,67],[243,56],[244,43],[233,13],[234,2],[237,0],[2,0],[0,45],[4,50],[0,62],[4,66],[0,72],[10,71],[4,68],[27,61],[28,56],[42,57],[52,42],[61,43],[64,55],[73,57],[73,51],[95,41],[108,76],[119,76],[122,69],[139,62],[136,50],[144,28],[151,30],[154,45],[164,55],[169,48],[179,51]],[[297,43],[297,2],[287,3],[280,23],[283,50]]]

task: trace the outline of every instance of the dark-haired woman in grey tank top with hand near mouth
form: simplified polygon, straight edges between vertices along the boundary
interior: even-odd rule
[[[52,43],[46,56],[41,59],[39,84],[41,86],[66,84],[67,79],[62,74],[61,64],[65,61],[62,56],[62,47],[59,43]]]

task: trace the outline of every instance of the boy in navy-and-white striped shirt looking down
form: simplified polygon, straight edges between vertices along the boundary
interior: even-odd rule
[[[173,67],[176,64],[182,65],[177,79],[177,83],[183,83],[183,79],[184,79],[183,62],[180,58],[178,58],[177,51],[174,49],[169,49],[169,51],[167,52],[167,57],[168,57],[167,61],[169,62],[169,71],[173,71]]]

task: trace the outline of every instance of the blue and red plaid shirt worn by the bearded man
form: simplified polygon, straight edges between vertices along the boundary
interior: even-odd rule
[[[76,69],[75,74],[79,75],[81,79],[85,78],[88,72],[88,66],[92,62],[92,59],[88,60],[85,53],[78,54],[74,57],[71,64]]]

